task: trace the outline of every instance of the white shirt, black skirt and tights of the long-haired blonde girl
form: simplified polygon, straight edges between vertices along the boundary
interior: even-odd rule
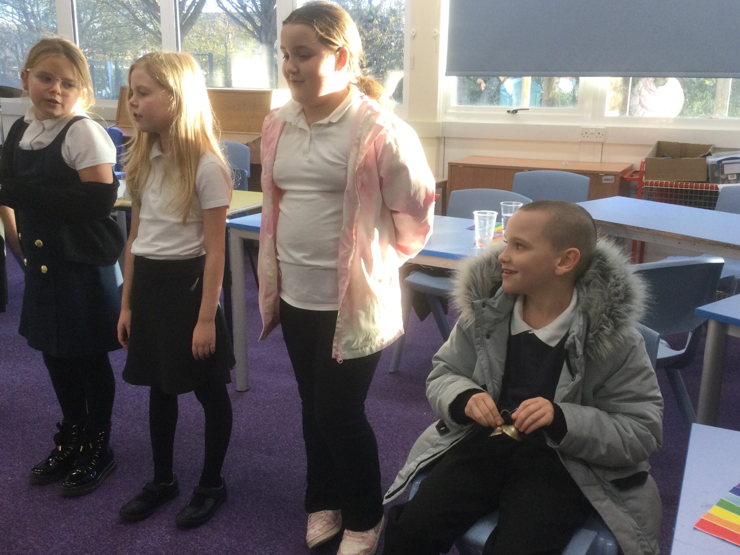
[[[206,420],[205,461],[199,487],[211,488],[209,495],[221,499],[219,496],[225,496],[221,467],[232,428],[226,383],[230,383],[230,369],[235,365],[221,306],[216,309],[216,346],[210,357],[193,357],[192,334],[203,298],[203,210],[229,206],[231,176],[216,155],[203,152],[195,175],[192,210],[183,223],[174,196],[177,172],[172,172],[159,142],[152,147],[149,160],[152,166],[141,195],[138,235],[131,245],[131,325],[123,377],[127,383],[150,388],[149,432],[155,485],[177,488],[172,453],[178,395],[195,392]],[[124,505],[122,518],[141,518],[137,499]],[[206,519],[212,510],[206,511]]]

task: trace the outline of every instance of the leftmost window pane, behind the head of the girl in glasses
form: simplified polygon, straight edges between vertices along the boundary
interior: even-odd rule
[[[20,89],[28,51],[53,33],[54,0],[0,0],[0,85]]]

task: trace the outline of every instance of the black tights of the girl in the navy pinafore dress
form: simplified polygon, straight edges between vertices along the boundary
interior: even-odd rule
[[[44,353],[44,364],[66,422],[110,428],[115,377],[108,353],[71,358]]]

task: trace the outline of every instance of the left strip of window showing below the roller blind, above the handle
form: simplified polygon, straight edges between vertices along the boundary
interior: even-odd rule
[[[575,108],[577,77],[458,77],[454,106]]]

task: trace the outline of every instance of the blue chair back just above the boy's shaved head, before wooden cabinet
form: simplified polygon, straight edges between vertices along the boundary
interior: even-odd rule
[[[533,201],[588,201],[591,179],[573,172],[535,169],[514,174],[511,190]]]

